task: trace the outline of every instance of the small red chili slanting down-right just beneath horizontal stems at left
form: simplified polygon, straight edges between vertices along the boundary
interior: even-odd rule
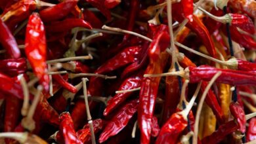
[[[58,84],[63,86],[63,88],[65,88],[66,90],[73,92],[73,93],[77,92],[77,88],[75,88],[75,86],[73,86],[69,82],[65,81],[65,79],[63,79],[62,75],[52,75],[52,77],[53,77],[54,81],[58,82]]]

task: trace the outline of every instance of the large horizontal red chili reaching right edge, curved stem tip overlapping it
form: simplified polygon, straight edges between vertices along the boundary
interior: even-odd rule
[[[230,69],[217,69],[208,65],[200,67],[188,67],[190,82],[210,81],[213,75],[221,71],[221,75],[216,82],[231,85],[255,85],[256,74],[247,71],[237,71]]]

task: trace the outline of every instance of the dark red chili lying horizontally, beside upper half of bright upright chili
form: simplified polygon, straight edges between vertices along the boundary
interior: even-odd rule
[[[85,22],[80,18],[66,18],[60,22],[51,22],[45,29],[51,33],[69,31],[74,27],[84,27],[87,29],[92,29],[91,24]]]

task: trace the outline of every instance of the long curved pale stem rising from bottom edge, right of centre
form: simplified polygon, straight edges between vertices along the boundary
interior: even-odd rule
[[[196,120],[195,120],[195,124],[194,124],[194,136],[193,136],[193,144],[198,143],[198,125],[199,125],[199,119],[200,119],[200,114],[202,111],[202,107],[203,107],[203,101],[205,100],[205,97],[208,93],[208,91],[210,90],[211,86],[213,85],[213,82],[216,81],[216,79],[221,75],[221,71],[219,71],[218,73],[216,73],[213,78],[211,79],[211,81],[209,81],[209,83],[207,84],[205,91],[202,94],[202,97],[200,99],[200,102],[198,104],[198,109],[196,110]]]

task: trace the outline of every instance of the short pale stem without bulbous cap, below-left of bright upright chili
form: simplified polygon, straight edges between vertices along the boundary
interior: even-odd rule
[[[23,75],[21,75],[20,77],[20,84],[22,85],[22,90],[24,95],[21,113],[23,117],[26,117],[26,115],[28,115],[28,109],[30,107],[30,95],[29,95],[27,82],[24,79]]]

